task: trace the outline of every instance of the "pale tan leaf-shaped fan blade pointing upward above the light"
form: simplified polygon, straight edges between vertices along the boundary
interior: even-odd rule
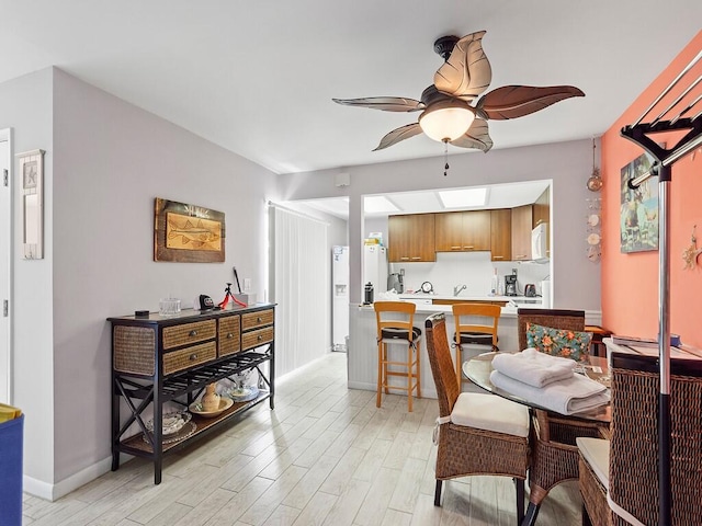
[[[487,90],[492,69],[483,50],[483,35],[485,31],[471,33],[456,43],[449,60],[434,75],[439,91],[469,102]]]

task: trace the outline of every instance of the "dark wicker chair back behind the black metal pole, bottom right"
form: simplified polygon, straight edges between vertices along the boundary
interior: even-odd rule
[[[670,361],[671,524],[702,524],[702,361]],[[658,523],[658,357],[612,353],[609,495]],[[614,515],[614,525],[627,524]]]

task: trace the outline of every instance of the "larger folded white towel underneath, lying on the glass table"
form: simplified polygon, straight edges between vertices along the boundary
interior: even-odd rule
[[[523,384],[494,370],[490,381],[495,387],[514,395],[525,402],[561,414],[574,414],[610,401],[608,389],[599,381],[582,375],[573,375],[567,380],[559,380],[539,388]]]

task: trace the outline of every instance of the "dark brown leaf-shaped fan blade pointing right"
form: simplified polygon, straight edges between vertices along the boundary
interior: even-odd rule
[[[484,95],[477,103],[483,118],[505,121],[523,117],[571,96],[585,96],[573,85],[505,85]]]

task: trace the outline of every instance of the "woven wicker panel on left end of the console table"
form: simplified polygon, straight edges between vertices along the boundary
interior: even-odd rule
[[[156,331],[149,327],[116,325],[112,332],[114,370],[154,376]]]

